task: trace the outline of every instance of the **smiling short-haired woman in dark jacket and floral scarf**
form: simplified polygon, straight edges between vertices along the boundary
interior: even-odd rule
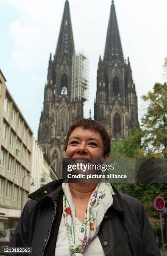
[[[109,154],[110,136],[101,123],[82,119],[70,126],[66,158],[82,163]],[[107,181],[57,180],[29,198],[10,247],[32,247],[33,256],[160,256],[141,202]]]

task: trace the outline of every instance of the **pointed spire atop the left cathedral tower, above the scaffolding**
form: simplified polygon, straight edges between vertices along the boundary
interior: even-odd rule
[[[70,63],[74,52],[75,48],[70,18],[70,6],[68,0],[66,0],[55,53],[55,61],[60,63],[63,59],[66,59]]]

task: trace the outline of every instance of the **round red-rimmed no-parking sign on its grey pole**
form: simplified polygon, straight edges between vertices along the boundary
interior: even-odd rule
[[[160,212],[160,227],[161,227],[161,237],[162,237],[162,253],[165,256],[165,248],[164,248],[164,234],[163,234],[163,226],[162,226],[162,210],[165,208],[165,200],[163,197],[157,197],[154,202],[155,209]]]

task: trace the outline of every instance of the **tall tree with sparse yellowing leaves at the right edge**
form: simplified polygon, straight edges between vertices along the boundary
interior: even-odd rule
[[[167,83],[156,83],[142,99],[149,104],[142,118],[142,147],[146,156],[167,158]]]

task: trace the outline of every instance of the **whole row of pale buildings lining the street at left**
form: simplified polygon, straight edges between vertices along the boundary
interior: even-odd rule
[[[0,70],[0,229],[15,228],[27,196],[58,179]]]

